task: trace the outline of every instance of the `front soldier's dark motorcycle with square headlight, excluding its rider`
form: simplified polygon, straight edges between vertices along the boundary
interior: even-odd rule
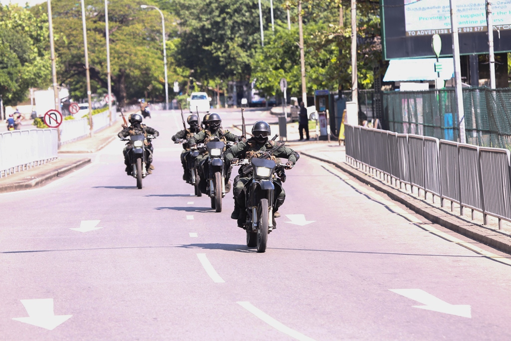
[[[257,246],[257,252],[263,253],[266,251],[268,234],[274,227],[275,170],[292,169],[293,166],[276,164],[273,160],[255,157],[250,161],[247,159],[237,161],[233,165],[244,165],[244,174],[252,172],[252,178],[247,182],[244,190],[247,246]]]

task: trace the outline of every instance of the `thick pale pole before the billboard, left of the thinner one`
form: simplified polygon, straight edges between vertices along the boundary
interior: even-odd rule
[[[456,84],[456,105],[459,119],[459,141],[461,143],[466,143],[463,92],[461,90],[461,64],[459,61],[458,16],[455,0],[449,0],[449,5],[451,6],[452,52],[454,59],[454,80]]]

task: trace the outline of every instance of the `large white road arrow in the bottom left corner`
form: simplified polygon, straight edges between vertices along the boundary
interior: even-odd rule
[[[14,317],[13,320],[54,330],[73,315],[55,315],[53,299],[21,300],[30,317]]]

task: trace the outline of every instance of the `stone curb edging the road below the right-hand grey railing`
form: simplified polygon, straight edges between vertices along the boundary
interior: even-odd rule
[[[494,247],[502,252],[511,254],[511,236],[501,233],[497,230],[486,228],[484,226],[470,223],[459,218],[454,214],[440,210],[426,201],[416,199],[406,193],[400,192],[389,186],[382,184],[380,181],[371,178],[369,175],[347,165],[326,160],[322,157],[312,155],[309,152],[300,152],[300,154],[315,158],[316,160],[329,163],[339,168],[341,171],[354,176],[357,180],[366,185],[370,185],[374,189],[387,194],[392,200],[404,204],[413,212],[422,215],[431,222],[444,226],[445,228],[466,236],[475,241],[481,242],[488,246]]]

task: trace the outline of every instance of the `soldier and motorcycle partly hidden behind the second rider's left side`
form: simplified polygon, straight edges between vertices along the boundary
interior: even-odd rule
[[[172,141],[175,143],[182,143],[183,151],[181,152],[181,165],[183,166],[183,180],[188,184],[195,187],[195,195],[201,196],[202,193],[199,190],[199,177],[197,169],[195,169],[195,157],[199,155],[198,150],[190,152],[190,145],[188,140],[196,133],[201,131],[199,125],[199,117],[197,115],[190,115],[187,119],[190,126],[189,129],[183,129],[178,131],[173,137]],[[184,125],[184,121],[183,121]]]

